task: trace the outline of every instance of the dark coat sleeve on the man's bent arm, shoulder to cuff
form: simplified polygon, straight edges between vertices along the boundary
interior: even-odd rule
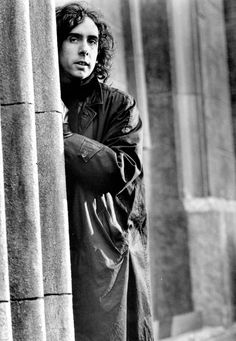
[[[64,141],[67,172],[83,186],[117,194],[142,171],[142,123],[135,101],[127,96],[111,115],[103,143],[74,133]]]

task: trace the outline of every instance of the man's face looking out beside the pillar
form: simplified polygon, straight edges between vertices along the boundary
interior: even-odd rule
[[[89,17],[70,31],[59,51],[62,81],[91,75],[98,55],[98,35],[98,28]]]

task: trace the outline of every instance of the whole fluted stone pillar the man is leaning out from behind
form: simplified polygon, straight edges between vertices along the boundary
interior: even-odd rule
[[[0,99],[0,339],[73,341],[53,1],[1,2]]]

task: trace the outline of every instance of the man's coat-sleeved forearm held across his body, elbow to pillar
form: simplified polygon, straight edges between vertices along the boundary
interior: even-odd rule
[[[67,173],[94,191],[118,193],[140,174],[140,161],[131,146],[126,146],[126,153],[122,147],[112,149],[79,134],[64,141]]]

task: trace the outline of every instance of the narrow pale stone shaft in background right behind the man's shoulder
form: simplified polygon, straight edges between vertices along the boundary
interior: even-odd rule
[[[147,207],[150,197],[150,148],[151,134],[147,103],[145,62],[143,54],[140,0],[127,0],[121,4],[124,37],[124,64],[127,74],[127,91],[134,96],[143,122],[143,165],[146,184]]]

